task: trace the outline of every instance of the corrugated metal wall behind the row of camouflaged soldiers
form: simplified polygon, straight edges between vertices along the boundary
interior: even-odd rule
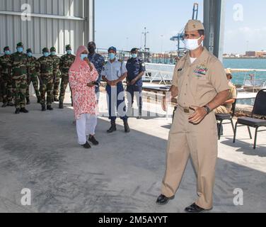
[[[94,40],[94,17],[95,0],[0,0],[0,52],[19,41],[36,56],[52,46],[62,55],[67,44],[76,52]]]

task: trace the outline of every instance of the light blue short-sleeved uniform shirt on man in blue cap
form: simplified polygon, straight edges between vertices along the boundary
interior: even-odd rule
[[[122,77],[123,74],[127,72],[127,68],[125,62],[120,62],[115,59],[115,62],[108,61],[102,70],[102,77],[106,77],[106,79],[113,81]]]

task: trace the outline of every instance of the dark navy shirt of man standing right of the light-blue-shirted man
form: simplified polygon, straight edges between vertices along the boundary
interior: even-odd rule
[[[137,57],[137,58],[130,58],[127,61],[127,81],[131,82],[133,79],[135,79],[139,73],[145,72],[145,63],[144,61]],[[142,78],[137,81],[135,84],[136,86],[142,86]]]

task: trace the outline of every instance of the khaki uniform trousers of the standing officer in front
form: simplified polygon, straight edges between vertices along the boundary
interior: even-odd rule
[[[197,173],[197,206],[212,209],[216,159],[218,155],[217,126],[214,112],[198,125],[189,123],[193,114],[178,107],[170,129],[166,154],[166,175],[162,194],[171,197],[180,186],[189,157]]]

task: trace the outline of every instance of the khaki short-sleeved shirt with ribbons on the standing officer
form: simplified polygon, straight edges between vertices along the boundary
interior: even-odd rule
[[[191,64],[189,52],[175,65],[173,86],[178,87],[178,105],[204,106],[219,93],[229,90],[221,62],[206,48]]]

